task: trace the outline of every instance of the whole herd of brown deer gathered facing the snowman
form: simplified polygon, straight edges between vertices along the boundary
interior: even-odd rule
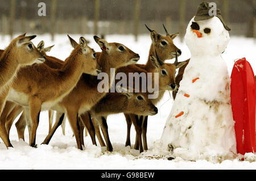
[[[140,152],[147,150],[148,116],[158,113],[155,105],[165,91],[173,91],[175,98],[188,60],[177,61],[181,50],[174,45],[173,39],[179,33],[170,35],[164,27],[166,36],[163,36],[146,28],[150,31],[152,44],[145,65],[137,64],[139,54],[125,45],[108,43],[97,36],[94,36],[94,40],[101,52],[90,48],[84,37],[80,37],[77,43],[68,36],[73,50],[64,61],[47,56],[53,45],[45,48],[44,41],[40,41],[35,47],[31,40],[36,36],[26,36],[26,33],[12,40],[5,50],[0,50],[0,137],[6,147],[13,147],[9,139],[10,128],[20,113],[15,123],[18,137],[24,140],[27,127],[29,145],[36,147],[40,112],[48,111],[49,132],[42,144],[49,144],[56,129],[65,124],[64,117],[67,117],[78,149],[84,149],[83,133],[86,128],[94,145],[97,136],[101,146],[113,151],[106,120],[108,115],[124,113],[127,123],[125,145],[131,146],[130,129],[134,124],[134,148]],[[172,58],[175,58],[174,64],[164,62]],[[176,69],[179,69],[177,77]],[[100,92],[97,89],[100,73],[106,73],[109,77],[117,73],[127,76],[129,73],[158,73],[158,77],[152,77],[152,82],[158,82],[158,97],[149,99],[149,92],[141,89],[130,92],[127,87],[117,85],[117,92]],[[114,84],[113,79],[108,80],[109,87]],[[56,111],[54,124],[53,111]]]

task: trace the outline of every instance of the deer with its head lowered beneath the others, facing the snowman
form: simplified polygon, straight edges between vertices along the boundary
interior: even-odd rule
[[[108,125],[106,124],[107,116],[114,113],[137,113],[138,115],[155,115],[158,113],[158,108],[152,104],[151,100],[148,99],[148,95],[143,92],[131,93],[127,89],[120,87],[118,92],[108,93],[104,98],[102,98],[96,105],[94,105],[90,110],[90,115],[92,115],[93,124],[96,125],[97,136],[100,136],[101,127],[102,133],[107,145],[107,150],[113,151],[112,144],[109,140]],[[81,120],[84,117],[81,116]],[[84,123],[85,125],[87,123]],[[89,132],[91,130],[88,130]],[[90,133],[92,135],[92,133]],[[99,137],[98,137],[99,138]],[[99,141],[103,141],[100,140]],[[103,143],[101,142],[101,145]]]

